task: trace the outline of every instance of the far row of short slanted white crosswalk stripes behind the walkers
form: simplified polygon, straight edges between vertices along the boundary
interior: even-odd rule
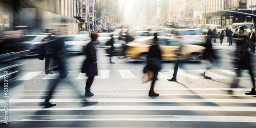
[[[117,74],[118,78],[120,79],[141,79],[142,77],[142,71],[134,73],[133,70],[112,70],[114,73]],[[76,75],[75,79],[87,79],[87,76],[85,73],[80,73],[80,71],[69,71],[71,74]],[[173,70],[165,70],[163,72],[159,72],[158,78],[159,79],[169,79],[173,75]],[[178,77],[182,78],[188,78],[188,79],[200,79],[203,78],[200,74],[205,72],[205,70],[178,70]],[[95,79],[110,79],[111,75],[110,70],[99,70],[98,76],[95,76]],[[233,76],[236,73],[230,70],[210,70],[206,72],[207,76],[210,76],[213,79],[230,79],[233,78]],[[20,76],[17,81],[20,80],[31,80],[33,78],[38,78],[40,76],[40,79],[47,80],[47,79],[58,79],[58,72],[55,72],[54,74],[45,75],[44,72],[38,71],[38,72],[28,72],[24,73],[22,76]],[[248,79],[249,74],[243,72],[242,75],[243,78]]]

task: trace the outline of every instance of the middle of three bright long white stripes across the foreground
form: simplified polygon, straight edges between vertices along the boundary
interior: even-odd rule
[[[251,106],[138,106],[138,105],[90,105],[78,108],[26,108],[9,111],[78,111],[78,110],[155,110],[155,111],[233,111],[256,112]],[[5,111],[1,109],[0,111]],[[256,121],[256,120],[255,120]]]

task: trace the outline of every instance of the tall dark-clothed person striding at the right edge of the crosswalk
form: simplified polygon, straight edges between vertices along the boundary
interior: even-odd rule
[[[234,53],[235,63],[234,68],[236,69],[236,76],[233,78],[231,83],[231,88],[238,88],[239,77],[241,76],[241,70],[246,69],[249,70],[249,74],[251,76],[252,81],[252,89],[249,93],[245,93],[246,95],[256,95],[255,91],[255,79],[253,76],[253,71],[251,67],[251,59],[250,52],[248,51],[248,47],[250,46],[250,41],[248,34],[245,33],[244,27],[241,26],[238,29],[238,37],[234,38],[237,41],[237,47]],[[232,90],[228,90],[229,93],[232,94]]]

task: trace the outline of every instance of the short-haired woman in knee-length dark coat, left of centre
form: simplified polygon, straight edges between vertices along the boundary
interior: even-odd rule
[[[94,80],[94,76],[98,75],[98,67],[97,67],[97,56],[96,56],[96,48],[94,47],[94,42],[98,38],[98,34],[92,32],[91,34],[92,40],[86,46],[84,53],[87,55],[86,60],[84,60],[82,65],[82,73],[86,73],[88,79],[86,81],[86,93],[84,96],[93,96],[94,94],[91,92],[91,86]]]

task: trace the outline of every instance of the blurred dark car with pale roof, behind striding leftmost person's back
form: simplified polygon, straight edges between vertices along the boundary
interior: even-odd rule
[[[36,55],[38,54],[38,50],[44,39],[47,38],[48,34],[41,35],[25,35],[20,38],[22,44],[27,44],[30,48],[30,54]]]

